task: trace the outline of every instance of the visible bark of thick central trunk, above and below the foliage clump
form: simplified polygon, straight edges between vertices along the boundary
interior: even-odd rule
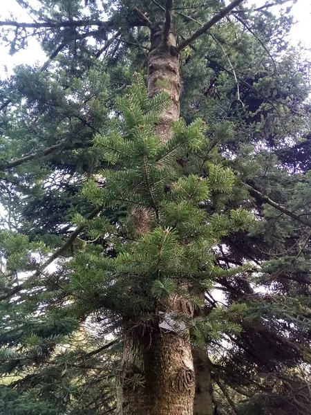
[[[180,76],[176,39],[169,34],[164,45],[162,33],[162,28],[151,28],[148,91],[150,97],[166,91],[171,98],[171,107],[160,114],[156,126],[156,133],[166,142],[179,118]],[[136,230],[148,232],[147,212],[136,208],[132,215],[137,216],[134,223],[139,223]],[[168,299],[162,311],[178,311],[180,306],[181,302]],[[178,335],[160,329],[157,314],[152,324],[129,327],[124,335],[121,415],[193,415],[195,382],[189,335],[187,330]]]

